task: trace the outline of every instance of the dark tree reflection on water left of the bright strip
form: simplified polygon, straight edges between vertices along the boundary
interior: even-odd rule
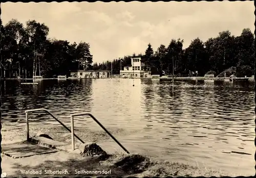
[[[1,81],[2,121],[21,119],[25,122],[25,110],[46,108],[60,118],[70,117],[67,111],[92,106],[92,80],[38,80],[38,85],[23,85],[21,81]],[[74,109],[75,108],[75,109]],[[42,117],[44,116],[44,117]],[[42,112],[31,114],[31,120],[52,120]]]

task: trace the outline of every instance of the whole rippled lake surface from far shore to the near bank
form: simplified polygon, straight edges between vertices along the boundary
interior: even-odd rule
[[[90,112],[106,128],[134,131],[117,136],[130,152],[167,161],[254,175],[254,82],[142,79],[42,80],[2,83],[2,122],[25,123],[26,109],[49,109],[61,121]],[[135,85],[133,87],[133,84]],[[56,124],[30,115],[33,123]],[[75,126],[101,130],[92,119]],[[3,138],[4,139],[4,138]]]

